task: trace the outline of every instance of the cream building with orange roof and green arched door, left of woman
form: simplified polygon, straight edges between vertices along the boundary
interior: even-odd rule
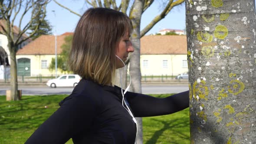
[[[65,37],[72,34],[64,33],[57,36],[57,55],[62,52],[61,46],[65,43]],[[55,71],[50,72],[48,69],[53,58],[55,58],[55,36],[39,36],[17,52],[17,73],[25,76],[55,75]],[[60,75],[62,72],[58,70],[57,74]]]

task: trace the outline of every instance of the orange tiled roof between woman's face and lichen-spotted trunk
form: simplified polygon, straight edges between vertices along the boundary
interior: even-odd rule
[[[187,54],[187,36],[143,36],[141,54]]]

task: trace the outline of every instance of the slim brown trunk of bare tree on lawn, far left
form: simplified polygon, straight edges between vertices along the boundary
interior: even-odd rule
[[[17,81],[17,63],[16,63],[16,46],[13,45],[12,41],[8,41],[8,48],[10,51],[10,73],[11,73],[11,99],[13,101],[20,100],[18,94],[18,81]]]

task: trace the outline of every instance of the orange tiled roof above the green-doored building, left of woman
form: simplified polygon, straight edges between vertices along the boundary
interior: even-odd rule
[[[65,43],[66,35],[57,36],[57,54],[62,52],[61,46]],[[17,55],[54,55],[55,54],[55,36],[42,35],[30,42],[22,49],[19,49]]]

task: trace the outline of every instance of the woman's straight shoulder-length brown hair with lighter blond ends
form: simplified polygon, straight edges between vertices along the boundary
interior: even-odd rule
[[[129,17],[108,8],[90,8],[79,20],[69,53],[70,69],[101,85],[113,83],[115,49],[125,32],[132,33]]]

